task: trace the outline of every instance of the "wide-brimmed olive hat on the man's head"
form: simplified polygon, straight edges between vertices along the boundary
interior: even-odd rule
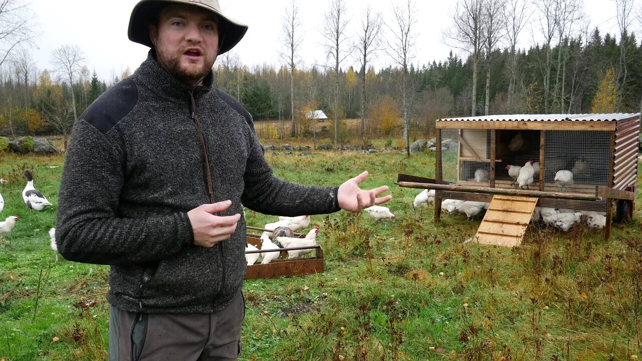
[[[127,30],[129,40],[153,48],[148,25],[155,20],[153,16],[159,12],[160,8],[168,4],[193,5],[214,13],[218,17],[219,54],[234,48],[243,39],[248,28],[247,25],[223,15],[218,0],[141,0],[134,6],[129,18]]]

